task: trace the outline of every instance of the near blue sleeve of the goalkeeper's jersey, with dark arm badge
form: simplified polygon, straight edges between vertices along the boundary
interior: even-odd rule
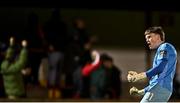
[[[146,72],[147,77],[151,78],[152,76],[160,74],[164,70],[168,62],[168,58],[169,53],[167,50],[167,45],[161,45],[156,53],[155,64],[153,64],[153,68]]]

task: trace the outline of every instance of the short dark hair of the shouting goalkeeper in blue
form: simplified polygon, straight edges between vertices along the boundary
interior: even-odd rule
[[[150,33],[155,33],[155,34],[160,35],[161,40],[165,41],[165,33],[161,26],[149,27],[148,29],[146,29],[144,35],[147,35]]]

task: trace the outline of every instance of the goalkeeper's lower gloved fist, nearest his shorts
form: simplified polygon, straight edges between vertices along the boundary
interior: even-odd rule
[[[129,90],[130,95],[142,96],[142,95],[144,95],[144,93],[145,93],[144,89],[138,90],[136,87],[132,87]]]

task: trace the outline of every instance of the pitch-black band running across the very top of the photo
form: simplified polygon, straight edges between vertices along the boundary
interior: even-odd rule
[[[89,9],[119,9],[119,10],[172,10],[179,11],[176,0],[1,0],[1,7],[62,7]]]

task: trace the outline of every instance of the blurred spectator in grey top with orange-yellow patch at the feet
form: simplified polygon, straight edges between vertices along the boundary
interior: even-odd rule
[[[49,98],[61,98],[61,76],[64,54],[57,49],[56,45],[49,46],[48,53],[48,96]]]

